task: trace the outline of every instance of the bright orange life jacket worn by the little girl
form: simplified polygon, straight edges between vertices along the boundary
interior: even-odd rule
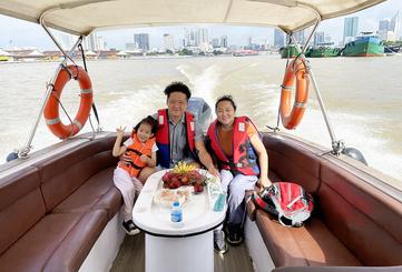
[[[153,147],[155,143],[155,138],[150,138],[145,143],[140,142],[137,138],[137,133],[131,133],[133,143],[127,147],[127,150],[125,152],[126,155],[128,155],[131,161],[130,162],[124,162],[119,161],[118,167],[126,170],[129,175],[138,177],[139,172],[145,168],[147,164],[144,163],[140,159],[143,154],[150,157],[153,154]]]

